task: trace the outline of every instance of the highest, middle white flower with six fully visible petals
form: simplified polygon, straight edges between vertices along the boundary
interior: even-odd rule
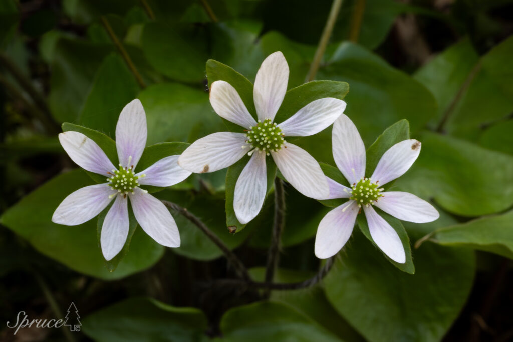
[[[242,224],[257,216],[264,203],[266,155],[272,156],[287,182],[303,195],[324,198],[329,194],[319,163],[302,148],[286,142],[284,137],[322,131],[343,113],[346,104],[333,97],[320,98],[277,125],[273,122],[274,116],[287,91],[288,75],[287,61],[281,52],[272,53],[262,62],[253,88],[258,122],[235,88],[225,81],[213,82],[210,87],[212,107],[221,117],[242,126],[241,133],[207,135],[189,146],[178,160],[184,169],[203,173],[227,168],[246,153],[251,155],[235,184],[233,206]]]

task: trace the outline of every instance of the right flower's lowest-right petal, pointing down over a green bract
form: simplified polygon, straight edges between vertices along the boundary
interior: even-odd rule
[[[390,259],[396,263],[404,264],[406,262],[406,254],[403,244],[397,232],[386,222],[386,220],[378,215],[376,210],[369,207],[363,207],[369,232],[374,243],[385,253]]]

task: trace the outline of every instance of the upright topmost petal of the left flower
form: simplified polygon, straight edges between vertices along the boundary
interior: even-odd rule
[[[133,165],[135,169],[146,147],[147,135],[146,113],[141,101],[136,98],[123,108],[117,119],[116,148],[122,166]]]

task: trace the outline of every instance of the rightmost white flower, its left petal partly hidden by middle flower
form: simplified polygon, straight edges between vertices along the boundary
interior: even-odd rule
[[[349,200],[321,220],[315,237],[315,255],[325,259],[337,254],[351,236],[356,217],[363,208],[374,243],[390,259],[404,264],[406,255],[399,235],[372,206],[408,222],[426,223],[439,217],[438,211],[425,200],[407,192],[383,192],[381,188],[408,171],[419,156],[420,142],[408,139],[393,145],[383,154],[369,178],[365,177],[362,138],[344,114],[333,124],[332,145],[335,163],[351,188],[328,178],[330,195],[327,198]]]

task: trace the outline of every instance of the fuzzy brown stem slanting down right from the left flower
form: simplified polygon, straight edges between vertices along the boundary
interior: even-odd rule
[[[221,240],[217,235],[215,235],[201,220],[196,217],[194,214],[189,212],[187,209],[180,207],[179,205],[169,202],[167,200],[162,200],[162,203],[170,209],[173,209],[187,218],[190,222],[192,222],[196,227],[200,228],[207,237],[212,240],[212,242],[219,247],[219,249],[224,253],[230,264],[235,269],[235,272],[239,277],[244,279],[244,281],[251,281],[251,277],[249,276],[248,270],[242,263],[242,261],[232,252],[230,249],[224,244],[223,240]]]

